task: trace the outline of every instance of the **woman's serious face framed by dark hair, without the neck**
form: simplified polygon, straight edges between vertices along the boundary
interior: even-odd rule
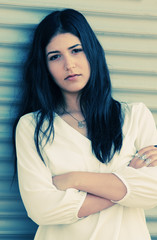
[[[58,34],[46,47],[48,70],[64,95],[79,93],[90,77],[90,65],[78,37]]]

